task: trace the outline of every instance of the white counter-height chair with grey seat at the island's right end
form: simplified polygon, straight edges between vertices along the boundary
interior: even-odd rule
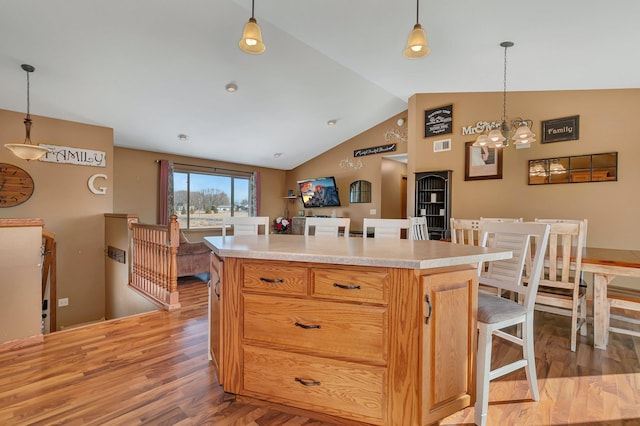
[[[544,254],[550,225],[532,222],[487,222],[482,228],[480,245],[511,250],[513,257],[478,265],[478,282],[518,294],[517,301],[500,295],[478,293],[478,356],[476,364],[475,423],[487,421],[489,382],[512,371],[524,368],[529,391],[534,401],[540,399],[533,348],[533,313],[535,296],[544,266]],[[531,249],[534,249],[533,253]],[[532,256],[529,281],[522,281],[525,259]],[[514,334],[512,326],[521,325],[522,335]],[[505,330],[508,328],[507,330]],[[493,336],[522,347],[522,358],[491,369]]]

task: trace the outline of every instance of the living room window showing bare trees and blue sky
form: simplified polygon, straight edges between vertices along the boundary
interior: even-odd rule
[[[173,172],[173,212],[182,229],[222,226],[225,216],[250,216],[250,176]]]

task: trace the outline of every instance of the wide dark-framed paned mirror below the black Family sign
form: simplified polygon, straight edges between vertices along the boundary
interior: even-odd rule
[[[618,153],[529,160],[529,185],[618,180]]]

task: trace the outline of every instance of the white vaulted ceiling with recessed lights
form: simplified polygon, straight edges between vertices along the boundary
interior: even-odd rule
[[[505,40],[508,90],[640,87],[640,1],[422,0],[431,54],[409,60],[415,7],[256,0],[267,50],[248,55],[251,0],[0,0],[0,108],[26,111],[27,63],[34,115],[112,127],[120,147],[287,170],[414,93],[501,91]]]

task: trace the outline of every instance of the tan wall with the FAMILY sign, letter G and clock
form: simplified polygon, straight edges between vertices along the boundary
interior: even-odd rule
[[[24,141],[24,114],[0,110],[0,142]],[[25,161],[0,146],[0,163],[17,165],[34,180],[35,191],[24,204],[0,208],[1,218],[41,218],[56,234],[58,248],[57,296],[69,298],[58,308],[58,326],[68,326],[104,316],[104,217],[113,205],[113,130],[32,115],[31,139],[106,153],[106,167]],[[89,191],[87,181],[107,187],[105,195]],[[55,303],[55,301],[51,301]]]

